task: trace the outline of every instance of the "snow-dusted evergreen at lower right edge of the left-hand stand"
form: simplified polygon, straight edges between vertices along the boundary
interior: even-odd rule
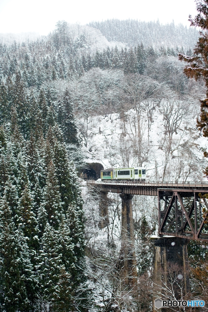
[[[62,282],[60,285],[61,307],[63,310],[74,310],[74,300],[76,303],[84,301],[83,293],[79,298],[79,294],[75,294],[76,288],[80,283],[84,283],[86,276],[84,275],[84,227],[83,227],[83,212],[80,206],[71,204],[66,212],[66,219],[59,227],[59,252],[61,261],[64,265],[65,271],[69,276],[70,297],[67,297],[69,286]],[[67,287],[68,286],[68,287]],[[87,290],[85,290],[87,295]],[[75,298],[74,298],[75,299]],[[78,307],[78,306],[77,306]]]

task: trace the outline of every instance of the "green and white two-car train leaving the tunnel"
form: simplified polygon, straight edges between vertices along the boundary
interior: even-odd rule
[[[145,181],[146,169],[137,168],[108,168],[100,171],[101,180],[133,180]]]

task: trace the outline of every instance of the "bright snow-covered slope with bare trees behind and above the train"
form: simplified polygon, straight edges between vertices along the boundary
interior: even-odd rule
[[[86,153],[86,162],[102,163],[105,169],[109,167],[127,166],[123,158],[125,153],[133,149],[130,141],[133,140],[135,136],[133,121],[136,119],[136,113],[134,110],[129,110],[126,112],[126,116],[128,116],[128,121],[125,123],[125,135],[123,120],[121,120],[119,114],[100,115],[91,117],[90,120],[88,119],[88,126],[86,127],[88,129],[86,134],[88,141],[83,145],[84,152]],[[165,145],[161,145],[164,143],[163,116],[159,110],[155,111],[154,122],[149,131],[149,143],[147,118],[143,116],[141,120],[143,123],[142,146],[145,146],[148,152],[148,160],[144,161],[142,165],[148,170],[148,179],[161,179],[166,153]],[[190,124],[195,125],[196,120],[190,120],[189,116],[189,119],[185,118],[182,120],[180,128],[172,135],[173,151],[171,155],[168,155],[169,160],[167,163],[168,172],[170,173],[169,180],[177,178],[175,177],[175,172],[180,169],[178,166],[181,166],[182,170],[185,170],[181,173],[181,178],[179,177],[179,180],[184,180],[185,178],[187,181],[205,179],[203,178],[202,168],[205,168],[207,165],[206,159],[203,157],[203,149],[206,149],[208,145],[207,139],[204,138],[196,128],[191,128]],[[127,149],[121,152],[123,144],[127,144]],[[167,142],[165,144],[167,144]],[[188,148],[184,146],[188,146]],[[145,153],[145,150],[143,153]],[[138,166],[136,162],[137,159],[130,155],[129,167]],[[157,167],[157,177],[155,176],[155,167]],[[190,174],[187,173],[189,169],[191,172]]]

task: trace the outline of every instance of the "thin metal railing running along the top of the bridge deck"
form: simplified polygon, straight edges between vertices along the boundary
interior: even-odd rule
[[[87,180],[87,184],[92,185],[92,184],[103,184],[103,185],[137,185],[137,186],[157,186],[157,187],[208,187],[208,181],[178,181],[178,182],[173,182],[173,181],[115,181],[115,180],[110,180],[110,181],[94,181],[94,180]]]

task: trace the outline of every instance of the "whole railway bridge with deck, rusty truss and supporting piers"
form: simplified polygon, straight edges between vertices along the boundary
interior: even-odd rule
[[[189,275],[187,266],[187,243],[189,240],[208,242],[208,182],[134,182],[134,181],[93,181],[87,186],[95,187],[103,193],[101,203],[102,217],[107,216],[106,198],[108,192],[119,193],[122,199],[121,238],[128,237],[133,246],[134,225],[132,198],[134,195],[157,196],[158,199],[158,236],[152,237],[154,244],[155,285],[162,283],[158,270],[165,271],[167,280],[167,263],[181,267],[184,277],[184,293],[189,293]],[[105,223],[103,223],[105,226]],[[129,255],[129,254],[128,254]],[[129,256],[128,256],[129,258]],[[126,264],[126,275],[131,276],[127,283],[136,279],[136,260],[134,255]]]

